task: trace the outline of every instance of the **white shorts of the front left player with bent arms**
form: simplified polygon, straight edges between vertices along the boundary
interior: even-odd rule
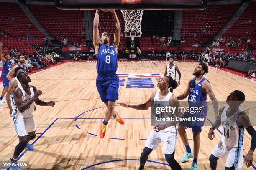
[[[33,116],[28,118],[14,118],[13,122],[16,133],[19,136],[26,136],[28,135],[28,132],[33,132],[36,130],[36,124]]]

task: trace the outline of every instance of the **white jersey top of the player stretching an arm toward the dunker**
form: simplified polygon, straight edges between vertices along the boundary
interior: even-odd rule
[[[171,92],[168,93],[168,95],[166,95],[166,97],[164,97],[163,100],[160,100],[159,99],[159,93],[160,93],[160,90],[158,90],[156,92],[156,95],[154,97],[154,103],[153,103],[153,107],[154,109],[156,109],[156,107],[169,107],[170,106],[170,97],[173,95]],[[167,122],[169,121],[158,121],[156,120],[156,117],[175,117],[175,115],[170,115],[169,113],[166,113],[166,112],[161,112],[160,114],[155,114],[155,110],[153,109],[153,118],[154,118],[154,125],[164,125],[166,124]],[[173,130],[174,132],[176,132],[176,125],[175,126],[172,126],[172,127],[168,127],[168,128],[171,128],[171,131]]]

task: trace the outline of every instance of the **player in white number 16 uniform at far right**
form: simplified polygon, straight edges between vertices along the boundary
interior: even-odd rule
[[[239,105],[245,100],[245,95],[239,90],[232,92],[226,100],[228,106],[219,111],[219,117],[215,121],[208,133],[210,140],[213,140],[214,132],[220,125],[222,126],[222,138],[212,151],[210,156],[210,166],[212,170],[217,168],[219,158],[228,157],[225,170],[234,170],[243,167],[243,136],[244,130],[252,136],[251,148],[245,157],[246,166],[252,164],[252,154],[255,149],[256,133],[250,124],[250,120]]]

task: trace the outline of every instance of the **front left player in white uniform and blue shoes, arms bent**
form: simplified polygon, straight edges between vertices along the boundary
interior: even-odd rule
[[[11,162],[13,163],[11,168],[14,170],[21,170],[15,162],[17,158],[22,153],[22,151],[27,148],[30,151],[35,149],[28,142],[36,138],[36,124],[33,119],[33,109],[34,102],[41,106],[54,106],[55,103],[43,102],[38,99],[39,95],[42,94],[41,90],[36,90],[36,87],[28,85],[31,82],[30,77],[26,72],[20,72],[17,75],[18,82],[20,85],[13,92],[13,99],[15,101],[15,110],[13,112],[13,121],[16,133],[19,138],[19,143],[16,145],[13,158]],[[16,165],[16,166],[15,166]]]

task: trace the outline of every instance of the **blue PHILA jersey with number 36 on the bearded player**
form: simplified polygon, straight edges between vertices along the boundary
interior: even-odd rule
[[[196,78],[193,78],[189,86],[189,107],[207,107],[207,93],[205,95],[202,93],[202,83],[207,79],[202,78],[197,84],[195,84],[195,80]]]

